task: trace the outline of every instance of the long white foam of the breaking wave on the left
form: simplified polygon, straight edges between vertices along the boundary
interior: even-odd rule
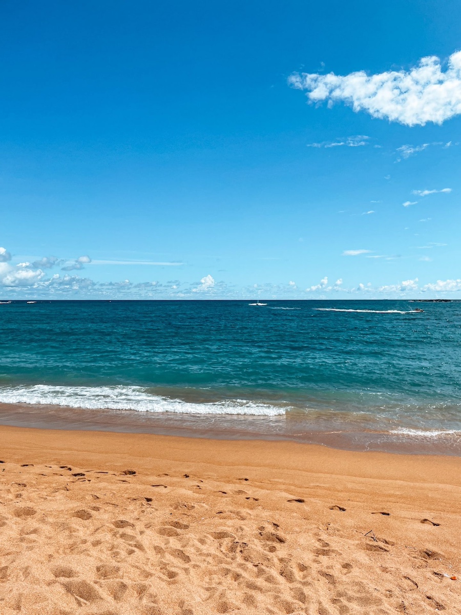
[[[100,410],[137,410],[139,412],[173,412],[188,415],[277,416],[285,408],[248,400],[223,400],[217,403],[194,403],[152,395],[135,386],[34,386],[0,387],[1,403],[31,403]]]

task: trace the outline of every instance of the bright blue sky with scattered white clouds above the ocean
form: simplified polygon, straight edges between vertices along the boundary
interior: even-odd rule
[[[0,298],[461,298],[459,0],[5,0]]]

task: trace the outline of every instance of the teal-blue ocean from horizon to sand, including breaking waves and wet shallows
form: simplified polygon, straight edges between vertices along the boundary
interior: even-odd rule
[[[461,454],[461,302],[250,303],[0,303],[0,423]]]

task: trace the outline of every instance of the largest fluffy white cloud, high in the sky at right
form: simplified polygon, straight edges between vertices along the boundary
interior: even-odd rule
[[[365,71],[345,76],[334,73],[294,73],[288,83],[308,90],[311,103],[328,100],[351,105],[372,117],[408,126],[427,122],[442,124],[461,113],[461,52],[449,57],[446,71],[436,56],[421,58],[409,71],[368,75]]]

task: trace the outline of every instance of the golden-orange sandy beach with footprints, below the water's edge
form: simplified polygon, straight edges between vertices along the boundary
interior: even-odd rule
[[[2,615],[461,613],[460,458],[0,438]]]

